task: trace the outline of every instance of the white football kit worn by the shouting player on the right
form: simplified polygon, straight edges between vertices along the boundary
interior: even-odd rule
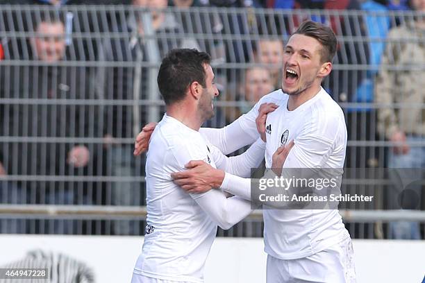
[[[265,161],[267,168],[272,167],[272,155],[276,149],[294,140],[294,147],[290,151],[283,170],[286,168],[332,168],[341,169],[344,166],[345,151],[347,147],[347,128],[344,114],[340,106],[333,101],[324,89],[306,103],[293,111],[288,111],[289,96],[281,89],[267,94],[247,114],[242,115],[231,125],[225,128],[201,129],[206,137],[223,152],[229,153],[244,146],[244,142],[252,142],[258,138],[255,119],[258,108],[263,103],[276,103],[280,107],[267,115],[266,135],[267,145]],[[245,137],[245,139],[242,139]],[[249,137],[249,138],[248,138]],[[238,141],[238,142],[235,142]],[[240,178],[226,173],[222,189],[235,196],[251,199],[251,180]],[[325,268],[324,274],[319,271],[317,281],[314,282],[353,282],[354,269],[352,252],[326,253],[324,250],[347,243],[351,246],[348,231],[344,228],[342,218],[336,209],[264,209],[265,252],[282,261],[281,266],[287,266],[294,259],[308,259],[317,255],[338,255],[334,262],[344,268],[338,269],[338,264]],[[346,249],[346,251],[349,248]],[[322,253],[320,253],[322,252]],[[285,263],[283,262],[285,261]],[[268,264],[276,261],[270,260]],[[302,261],[306,264],[306,260]],[[348,264],[347,264],[348,262]],[[301,261],[299,261],[301,264]],[[334,268],[335,267],[335,268]],[[283,267],[282,267],[283,268]],[[314,268],[313,268],[314,269]],[[295,271],[296,268],[292,268]],[[301,268],[309,273],[311,268]],[[288,280],[274,276],[281,272],[276,268],[267,268],[267,282],[297,282],[306,280],[304,277],[291,277]],[[332,273],[338,273],[337,275]],[[328,277],[326,277],[326,274]],[[342,275],[341,275],[342,274]],[[306,274],[304,274],[306,275]],[[346,278],[344,281],[333,281],[330,278]],[[313,273],[314,277],[314,273]],[[276,279],[279,278],[279,279]],[[310,277],[311,278],[311,277]],[[303,281],[304,282],[304,281]],[[309,282],[306,280],[305,282]]]

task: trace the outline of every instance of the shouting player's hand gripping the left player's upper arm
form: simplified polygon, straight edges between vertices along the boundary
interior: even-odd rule
[[[185,167],[188,170],[172,173],[172,178],[174,183],[188,193],[202,194],[222,185],[224,171],[215,169],[202,160],[192,160]]]

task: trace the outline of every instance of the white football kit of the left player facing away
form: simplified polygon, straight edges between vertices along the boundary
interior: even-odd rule
[[[252,211],[250,201],[226,198],[219,189],[187,194],[174,184],[171,173],[185,170],[190,160],[204,160],[215,168],[249,177],[264,153],[265,143],[258,139],[244,154],[226,157],[200,132],[165,114],[149,141],[148,225],[132,282],[203,282],[203,266],[217,225],[231,228]]]

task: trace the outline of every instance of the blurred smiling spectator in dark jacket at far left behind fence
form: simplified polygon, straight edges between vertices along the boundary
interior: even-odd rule
[[[96,173],[98,146],[78,141],[101,137],[99,105],[82,103],[96,99],[93,69],[60,66],[67,57],[65,26],[56,13],[45,15],[22,46],[22,54],[10,52],[13,40],[5,49],[7,60],[29,59],[31,64],[1,67],[0,97],[27,100],[3,105],[1,135],[19,140],[1,143],[3,166],[8,175],[38,179],[19,184],[26,190],[24,195],[31,196],[31,203],[83,204],[88,202],[83,191],[93,189],[93,184],[63,177]],[[45,176],[61,180],[48,181]],[[49,229],[72,232],[70,226]]]

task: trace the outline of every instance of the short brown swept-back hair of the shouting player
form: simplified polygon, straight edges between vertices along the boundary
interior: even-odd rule
[[[292,33],[292,35],[294,34],[315,38],[323,46],[320,54],[322,62],[333,61],[337,49],[337,39],[331,28],[317,22],[306,21],[297,28],[297,31]]]

